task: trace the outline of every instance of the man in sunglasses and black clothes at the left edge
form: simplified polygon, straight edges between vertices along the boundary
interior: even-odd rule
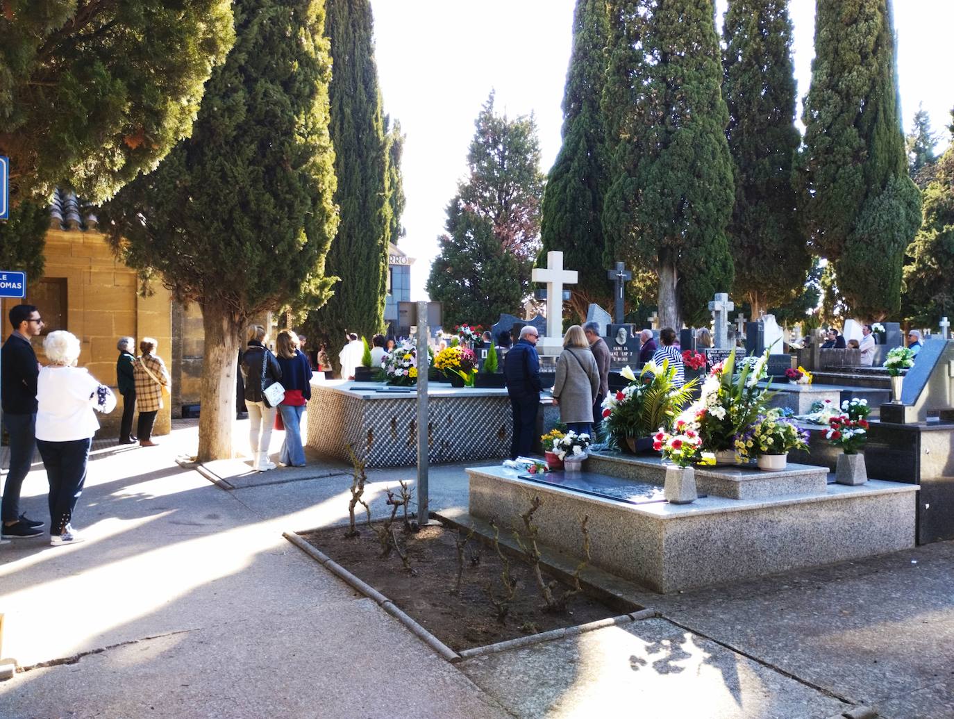
[[[13,331],[0,349],[0,393],[3,423],[10,434],[10,471],[3,489],[3,539],[39,537],[42,521],[20,514],[20,487],[30,473],[36,446],[36,378],[40,365],[30,344],[43,328],[39,310],[32,305],[10,309]]]

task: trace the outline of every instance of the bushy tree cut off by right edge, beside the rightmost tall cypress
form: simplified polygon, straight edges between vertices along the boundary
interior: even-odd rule
[[[904,315],[920,326],[954,317],[954,144],[937,165],[934,181],[924,190],[921,230],[908,247],[904,267]]]

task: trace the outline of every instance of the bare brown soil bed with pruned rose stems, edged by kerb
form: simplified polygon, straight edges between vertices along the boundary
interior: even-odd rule
[[[415,576],[404,570],[394,550],[386,559],[381,558],[378,539],[366,525],[361,528],[361,536],[354,539],[345,539],[346,530],[347,527],[321,529],[301,537],[380,591],[455,651],[625,613],[584,593],[570,598],[565,612],[544,612],[540,608],[543,599],[529,566],[523,560],[508,557],[516,590],[506,624],[500,624],[487,598],[487,584],[492,582],[499,598],[503,593],[503,565],[494,548],[481,543],[476,536],[464,550],[461,593],[455,596],[450,593],[457,581],[455,530],[443,526],[428,526],[417,534],[399,530],[398,539],[406,546]],[[547,575],[544,578],[552,580]],[[560,582],[553,587],[554,595],[562,595],[569,588]]]

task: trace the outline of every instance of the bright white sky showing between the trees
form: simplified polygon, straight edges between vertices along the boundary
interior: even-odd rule
[[[560,150],[574,5],[574,0],[371,0],[384,111],[400,120],[406,136],[406,236],[399,244],[416,258],[412,300],[426,297],[446,205],[466,175],[474,120],[491,90],[498,113],[533,114],[541,170],[550,170]],[[725,5],[716,0],[720,24]],[[940,150],[954,107],[954,83],[944,72],[954,2],[896,0],[894,8],[905,131],[923,102],[943,137]],[[815,54],[815,0],[791,0],[789,12],[800,114]]]

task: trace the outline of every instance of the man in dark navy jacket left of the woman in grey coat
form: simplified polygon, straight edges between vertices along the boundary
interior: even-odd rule
[[[526,325],[520,330],[520,339],[504,358],[504,379],[513,412],[513,437],[510,440],[510,459],[529,455],[536,433],[536,415],[540,408],[540,359],[536,353],[537,330]]]

